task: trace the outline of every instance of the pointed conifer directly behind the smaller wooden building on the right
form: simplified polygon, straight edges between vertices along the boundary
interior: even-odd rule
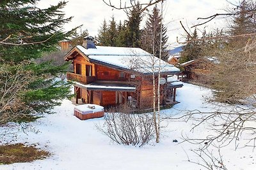
[[[187,62],[189,60],[198,59],[202,56],[202,44],[200,41],[194,41],[193,39],[198,39],[198,34],[195,31],[192,34],[192,38],[188,36],[188,44],[183,46],[183,51],[180,53],[180,63]],[[192,40],[192,41],[191,41]]]

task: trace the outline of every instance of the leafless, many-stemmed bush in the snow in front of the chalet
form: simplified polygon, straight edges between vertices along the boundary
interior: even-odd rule
[[[104,118],[104,125],[98,129],[118,144],[141,147],[153,137],[151,115],[134,114],[129,106],[111,108]]]

